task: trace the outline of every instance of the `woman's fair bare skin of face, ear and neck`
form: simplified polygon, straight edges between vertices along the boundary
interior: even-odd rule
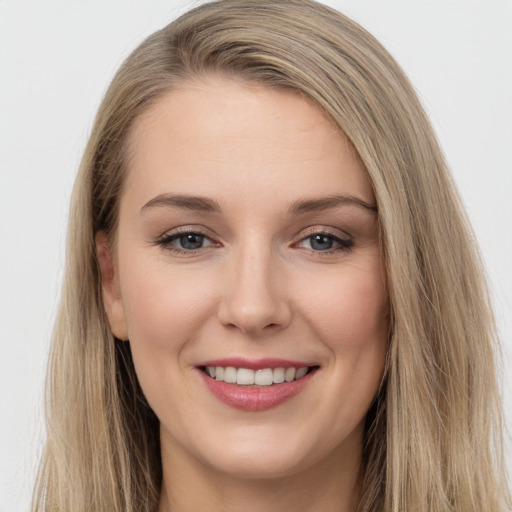
[[[99,233],[97,251],[111,328],[130,340],[161,423],[159,511],[355,511],[389,324],[377,214],[355,203],[289,211],[334,194],[375,205],[353,147],[302,96],[222,77],[159,99],[129,143],[116,250]],[[165,238],[179,229],[205,235],[203,246]],[[312,245],[318,233],[331,249]],[[244,411],[197,369],[232,356],[319,370],[283,404]]]

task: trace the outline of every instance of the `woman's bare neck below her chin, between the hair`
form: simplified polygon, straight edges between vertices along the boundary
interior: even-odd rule
[[[360,448],[340,447],[327,460],[273,478],[221,473],[165,442],[162,462],[158,512],[355,512],[361,496]]]

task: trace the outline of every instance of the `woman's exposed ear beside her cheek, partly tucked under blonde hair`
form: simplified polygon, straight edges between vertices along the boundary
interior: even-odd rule
[[[96,257],[100,266],[103,304],[110,329],[116,338],[127,340],[128,328],[119,288],[119,273],[105,231],[96,234]]]

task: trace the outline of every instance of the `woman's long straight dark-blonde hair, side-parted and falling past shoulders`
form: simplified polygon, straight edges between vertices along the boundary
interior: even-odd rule
[[[475,240],[404,73],[364,29],[312,0],[220,0],[145,40],[100,106],[76,180],[33,511],[154,511],[158,420],[106,320],[95,234],[116,229],[134,120],[221,73],[315,101],[356,148],[379,209],[392,326],[368,412],[360,510],[501,512],[495,335]],[[179,122],[177,119],[176,122]]]

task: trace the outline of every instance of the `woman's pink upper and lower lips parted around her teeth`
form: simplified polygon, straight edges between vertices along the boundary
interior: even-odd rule
[[[239,359],[222,359],[218,361],[209,361],[208,364],[205,364],[204,366],[233,366],[235,368],[249,368],[257,370],[261,368],[280,367],[300,368],[308,365],[278,359],[262,359],[257,362],[250,362],[247,360],[242,361]],[[246,411],[264,411],[277,407],[300,393],[316,373],[316,371],[313,370],[301,379],[294,380],[292,382],[283,382],[282,384],[273,384],[272,386],[248,387],[218,381],[206,375],[199,368],[198,371],[206,387],[216,398],[231,407]]]

